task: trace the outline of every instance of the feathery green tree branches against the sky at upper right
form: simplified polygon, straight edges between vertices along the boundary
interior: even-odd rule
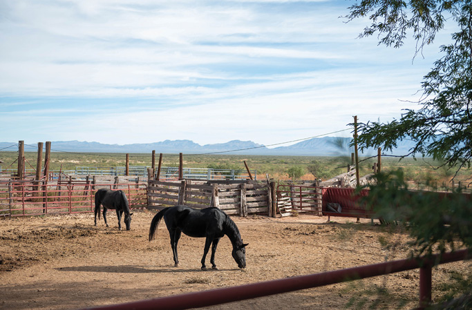
[[[422,82],[419,110],[406,110],[389,123],[359,124],[361,149],[382,146],[391,150],[402,139],[413,139],[410,154],[444,160],[444,166],[471,166],[472,146],[472,3],[469,1],[361,1],[350,7],[350,20],[369,16],[372,25],[361,37],[379,33],[379,43],[402,46],[407,30],[413,30],[418,49],[433,41],[444,26],[444,14],[457,23],[453,43],[441,46],[444,56]],[[408,16],[408,14],[410,14]],[[384,36],[384,37],[382,37]]]

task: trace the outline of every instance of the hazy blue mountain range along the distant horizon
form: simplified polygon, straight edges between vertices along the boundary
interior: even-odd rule
[[[77,152],[77,153],[222,153],[237,155],[303,155],[303,156],[346,156],[353,153],[353,148],[349,147],[352,138],[345,137],[322,137],[308,139],[290,146],[280,146],[277,148],[267,148],[252,141],[233,140],[220,144],[196,144],[191,140],[165,140],[149,144],[101,144],[98,142],[80,141],[57,141],[51,142],[51,150]],[[0,142],[0,149],[3,151],[17,151],[17,148],[8,148],[16,144],[15,142]],[[393,151],[393,155],[408,154],[408,150],[413,146],[413,142],[399,142],[399,147]],[[25,151],[37,151],[37,147],[25,146]],[[229,152],[231,151],[231,152]],[[364,151],[364,155],[375,155],[377,150]]]

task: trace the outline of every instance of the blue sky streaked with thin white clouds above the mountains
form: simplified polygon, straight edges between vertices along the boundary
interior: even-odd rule
[[[418,108],[449,43],[358,39],[354,1],[0,0],[0,142],[349,137]]]

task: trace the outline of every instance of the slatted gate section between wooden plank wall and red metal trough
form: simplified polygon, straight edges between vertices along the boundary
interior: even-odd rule
[[[278,185],[278,212],[282,216],[301,212],[322,215],[322,189],[318,186]]]

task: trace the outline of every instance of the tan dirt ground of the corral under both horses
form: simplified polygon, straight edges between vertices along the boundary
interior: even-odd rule
[[[406,233],[370,220],[299,215],[273,219],[232,217],[247,246],[247,268],[238,269],[231,242],[216,252],[220,270],[200,271],[205,240],[182,235],[180,267],[173,267],[169,235],[161,223],[148,241],[153,211],[135,211],[131,231],[118,231],[108,213],[0,220],[0,309],[81,309],[307,275],[406,258]],[[395,249],[387,244],[397,243]],[[209,256],[207,266],[209,266]],[[433,299],[453,271],[470,262],[433,270]],[[234,302],[208,309],[411,309],[417,307],[419,271]],[[364,302],[367,302],[364,304]]]

